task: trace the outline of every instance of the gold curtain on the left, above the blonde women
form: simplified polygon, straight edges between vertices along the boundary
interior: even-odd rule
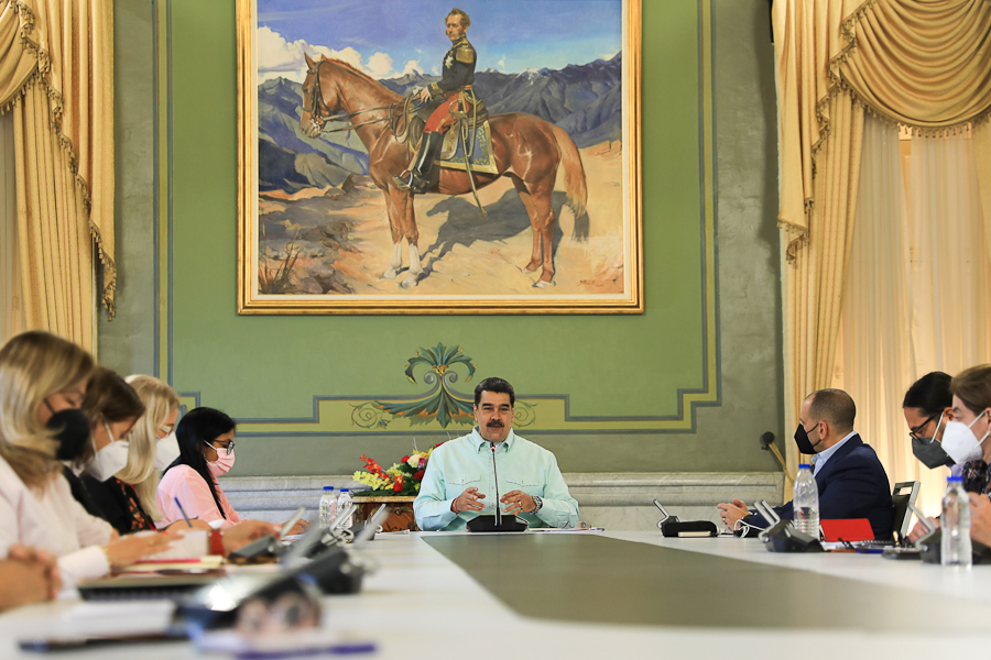
[[[112,315],[112,0],[0,0],[0,109],[13,109],[29,328],[92,349],[94,255]]]

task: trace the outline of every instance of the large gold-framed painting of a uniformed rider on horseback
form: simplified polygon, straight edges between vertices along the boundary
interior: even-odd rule
[[[643,311],[641,0],[238,0],[239,314]]]

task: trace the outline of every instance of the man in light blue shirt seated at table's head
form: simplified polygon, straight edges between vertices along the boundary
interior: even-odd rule
[[[578,503],[568,493],[554,454],[513,433],[515,403],[513,386],[502,378],[486,378],[475,388],[478,426],[431,454],[413,503],[421,529],[465,529],[476,516],[494,515],[500,504],[503,514],[519,515],[531,527],[577,525]],[[499,502],[494,502],[497,472]],[[482,502],[489,495],[489,502]]]

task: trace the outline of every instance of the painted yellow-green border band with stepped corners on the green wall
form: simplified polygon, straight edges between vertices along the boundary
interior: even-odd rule
[[[722,405],[721,344],[719,326],[719,279],[717,252],[717,179],[716,179],[716,120],[714,109],[714,21],[711,0],[697,2],[697,55],[698,55],[698,232],[700,237],[700,324],[697,328],[701,341],[700,363],[697,376],[699,383],[690,387],[677,387],[672,393],[676,403],[673,413],[654,415],[645,410],[642,415],[575,415],[571,410],[569,393],[543,392],[533,395],[518,395],[518,427],[527,426],[532,436],[662,436],[695,433],[697,410],[703,407]],[[156,10],[157,48],[156,56],[156,237],[157,251],[155,270],[156,306],[155,375],[170,385],[177,386],[174,361],[176,330],[174,328],[174,177],[173,177],[173,2],[160,2]],[[455,346],[457,349],[457,346]],[[415,360],[415,359],[413,359]],[[413,360],[407,364],[413,366]],[[465,364],[472,364],[469,362]],[[473,367],[472,367],[473,369]],[[426,431],[440,432],[448,428],[470,428],[470,415],[465,415],[462,406],[468,393],[449,387],[458,377],[453,372],[428,385],[436,385],[429,392],[416,396],[395,394],[361,393],[345,396],[314,395],[312,417],[259,417],[238,416],[238,435],[243,438],[353,438],[360,436],[414,436]],[[409,375],[409,374],[407,374]],[[693,374],[689,382],[695,382]],[[470,380],[470,374],[469,374]],[[467,381],[466,381],[467,382]],[[199,405],[216,406],[216,392],[197,389],[198,383],[181,383],[182,404],[186,408]],[[395,415],[410,406],[424,402],[433,403],[444,398],[449,416],[416,416],[410,413]],[[524,408],[521,411],[521,408]],[[228,410],[237,415],[237,411]],[[446,419],[447,422],[440,421]],[[525,422],[525,424],[524,424]],[[450,426],[448,426],[450,425]]]

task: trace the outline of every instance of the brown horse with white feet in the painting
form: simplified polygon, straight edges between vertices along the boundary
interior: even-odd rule
[[[303,81],[300,131],[316,138],[330,116],[341,111],[347,113],[352,124],[350,128],[358,132],[368,150],[369,174],[385,195],[392,230],[392,263],[382,277],[394,279],[402,267],[402,240],[405,238],[410,245],[410,271],[402,286],[410,288],[423,273],[417,245],[420,231],[413,216],[411,193],[400,190],[392,180],[394,175],[407,167],[410,153],[407,145],[398,140],[390,128],[401,113],[403,99],[344,62],[326,58],[314,62],[307,55],[306,64],[309,70]],[[498,174],[472,173],[475,185],[477,188],[488,186],[500,176],[513,182],[533,229],[533,254],[524,270],[534,273],[542,267],[541,277],[534,286],[547,286],[554,276],[552,239],[555,218],[551,196],[557,168],[564,163],[568,206],[579,218],[585,213],[588,199],[581,156],[564,130],[532,114],[493,114],[489,118],[489,124]],[[440,195],[470,193],[468,173],[443,167],[438,183],[428,191]]]

